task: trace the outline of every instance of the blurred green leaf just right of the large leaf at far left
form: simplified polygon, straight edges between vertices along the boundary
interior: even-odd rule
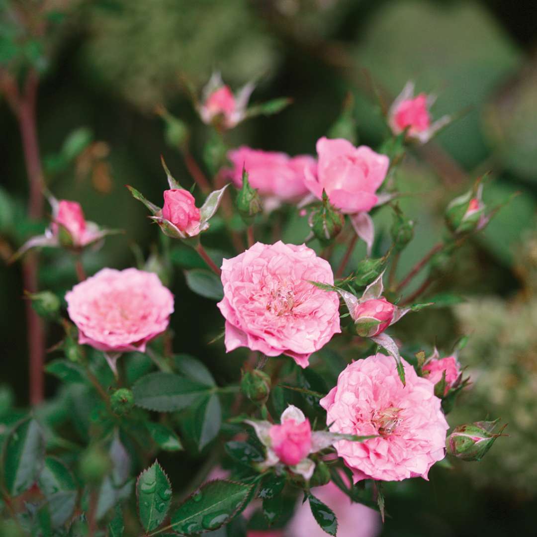
[[[71,471],[59,459],[48,456],[38,484],[47,498],[52,527],[62,526],[71,518],[76,505],[76,483]]]

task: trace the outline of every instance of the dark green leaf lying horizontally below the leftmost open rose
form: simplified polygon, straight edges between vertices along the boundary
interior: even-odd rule
[[[205,384],[173,373],[150,373],[133,388],[134,403],[158,412],[171,412],[190,407],[199,397],[211,393]]]

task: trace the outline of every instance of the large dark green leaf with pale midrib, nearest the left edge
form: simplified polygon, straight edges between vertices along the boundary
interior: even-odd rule
[[[4,482],[12,496],[29,489],[43,466],[45,438],[34,418],[26,418],[11,432],[4,451]]]

